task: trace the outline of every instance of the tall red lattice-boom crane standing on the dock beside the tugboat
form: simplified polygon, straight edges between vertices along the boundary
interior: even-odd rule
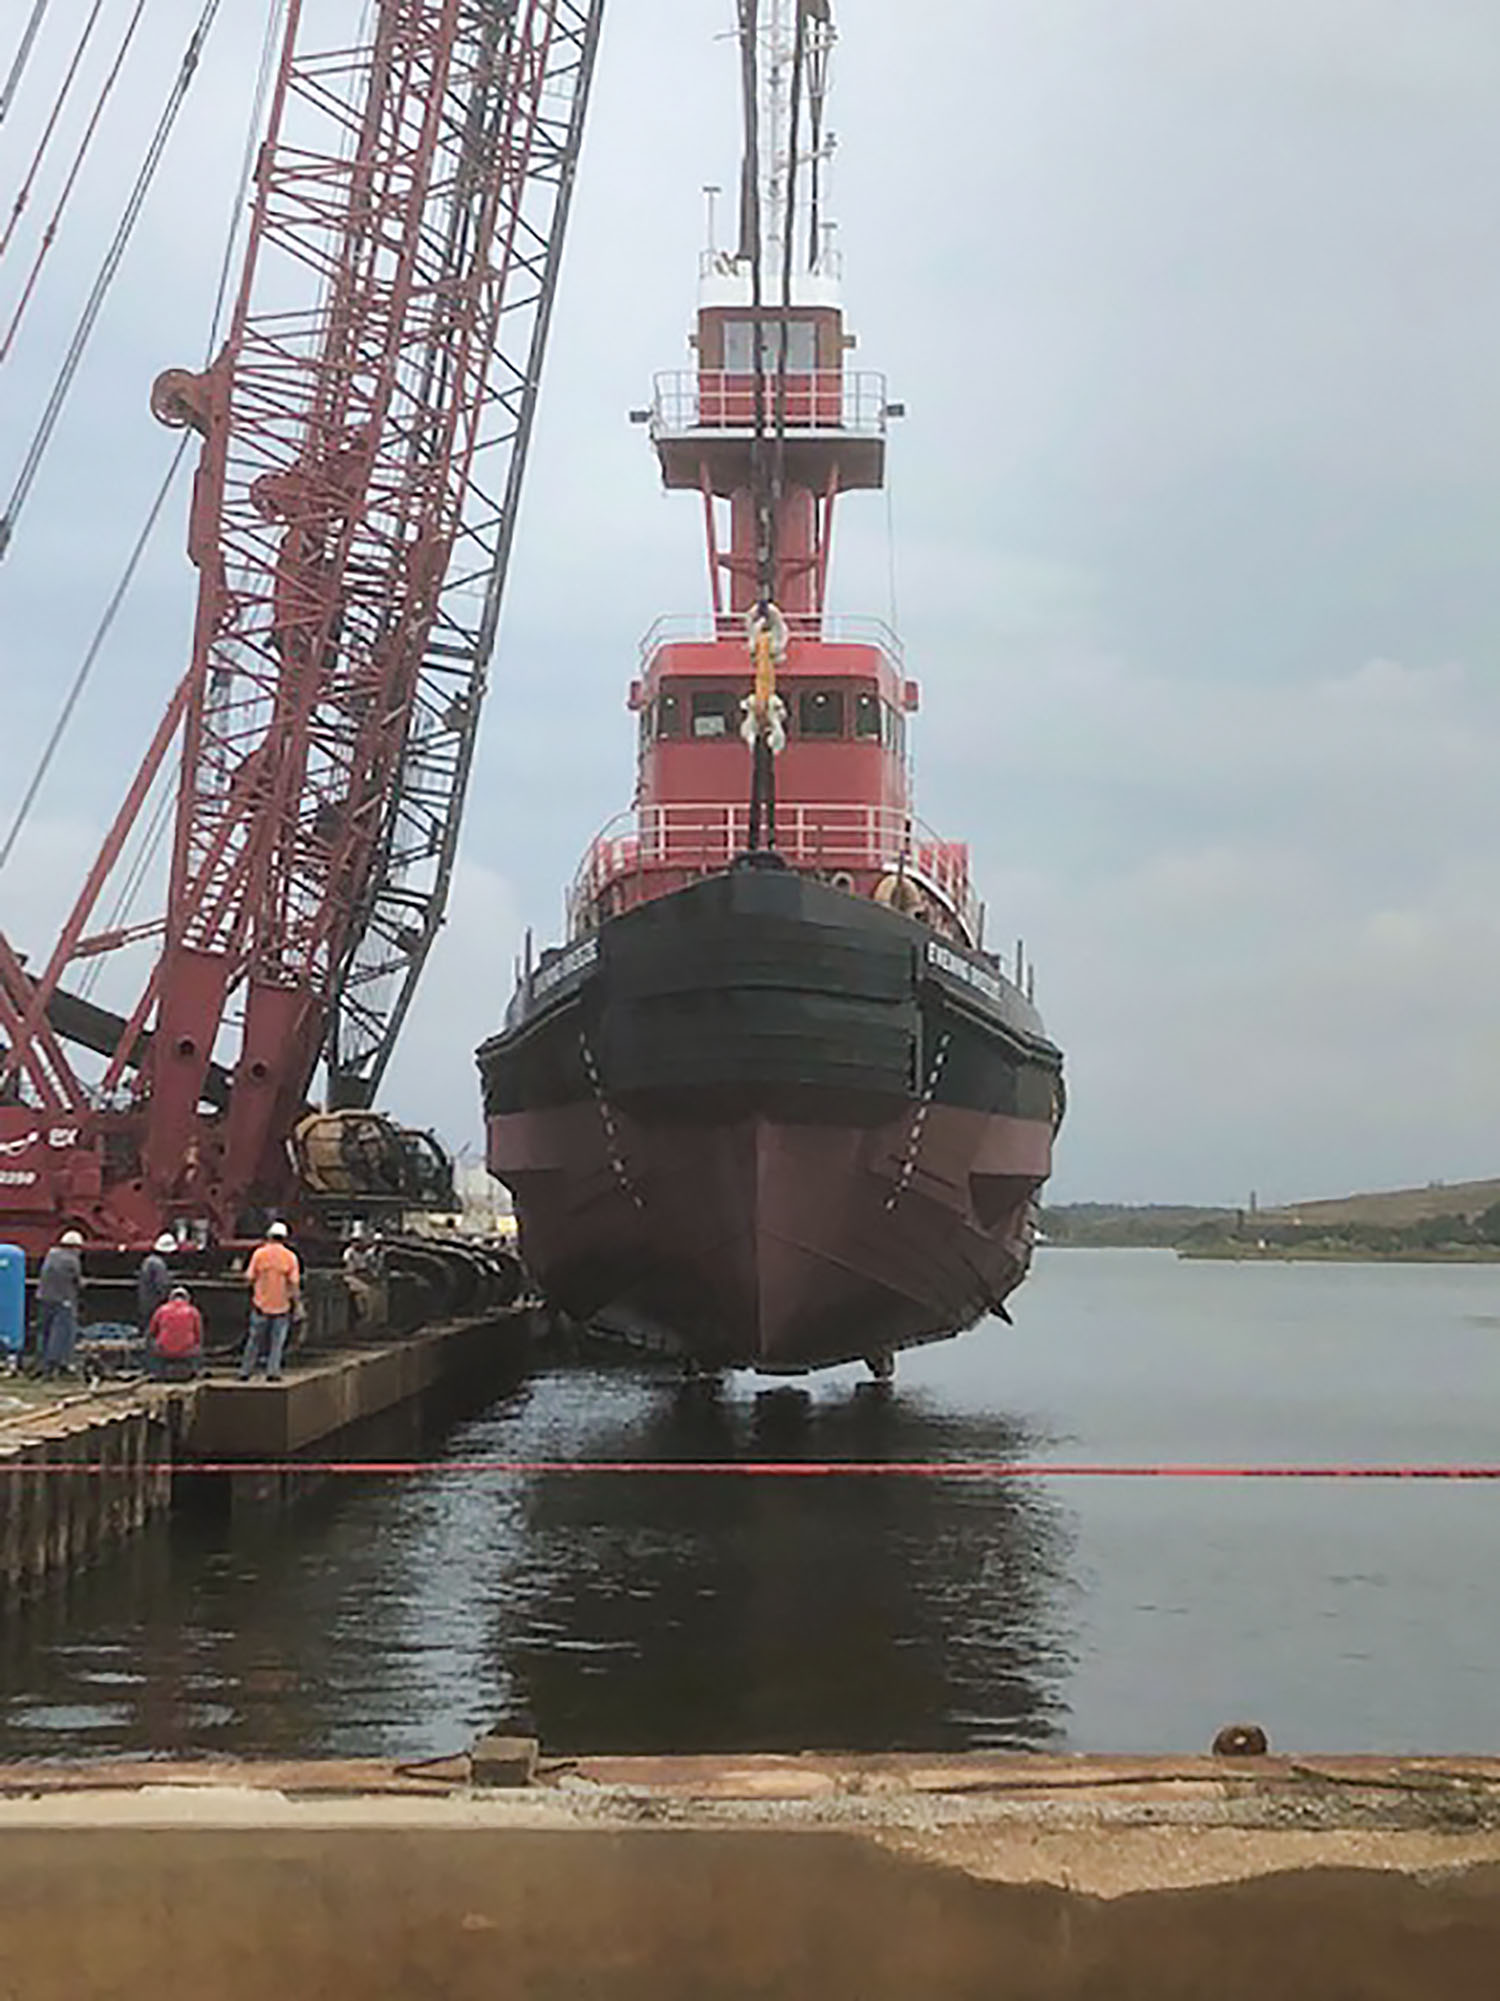
[[[204,440],[192,664],[46,964],[0,936],[0,1239],[230,1239],[292,1199],[320,1063],[370,1105],[442,922],[602,8],[378,0],[314,46],[288,0],[228,340],[152,390]],[[90,928],[176,740],[166,910]],[[64,984],[144,940],[120,1013]]]

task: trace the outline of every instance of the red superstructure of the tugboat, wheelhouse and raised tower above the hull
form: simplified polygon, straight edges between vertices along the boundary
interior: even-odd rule
[[[790,306],[756,314],[744,264],[714,252],[690,344],[698,366],[658,376],[642,414],[664,484],[702,496],[710,612],[662,620],[646,636],[630,686],[640,718],[636,808],[584,856],[572,930],[682,888],[750,846],[740,724],[760,600],[756,466],[768,454],[778,488],[772,594],[786,628],[774,846],[792,868],[978,944],[966,844],[912,816],[906,716],[918,684],[906,678],[900,642],[880,620],[826,610],[838,496],[884,484],[886,424],[898,414],[884,376],[844,366],[854,342],[834,276],[804,272]]]

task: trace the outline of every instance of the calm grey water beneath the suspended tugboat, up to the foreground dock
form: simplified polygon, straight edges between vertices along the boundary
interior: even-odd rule
[[[1500,1267],[1048,1251],[1016,1329],[806,1391],[536,1377],[448,1457],[1500,1461]],[[0,1631],[0,1755],[1500,1747],[1500,1493],[422,1477],[174,1521]]]

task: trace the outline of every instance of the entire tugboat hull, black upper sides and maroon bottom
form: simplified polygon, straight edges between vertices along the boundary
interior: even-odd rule
[[[942,1339],[1026,1277],[1058,1051],[988,960],[734,868],[558,954],[480,1051],[554,1305],[706,1367]]]

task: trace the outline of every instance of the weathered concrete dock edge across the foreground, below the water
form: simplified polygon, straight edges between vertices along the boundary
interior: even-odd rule
[[[1500,1759],[0,1767],[28,2001],[1500,1991]]]

